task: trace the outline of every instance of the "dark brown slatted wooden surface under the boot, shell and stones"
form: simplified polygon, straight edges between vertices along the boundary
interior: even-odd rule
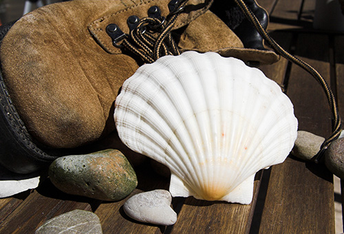
[[[297,20],[301,0],[279,0],[276,6],[272,0],[258,2],[268,11],[274,8],[269,25],[272,38],[323,74],[344,116],[344,36],[312,30],[315,1],[305,1],[301,21]],[[330,134],[330,109],[314,78],[283,58],[261,70],[286,89],[300,130]],[[169,178],[155,174],[149,165],[140,167],[137,174],[139,185],[131,195],[169,187]],[[131,220],[122,211],[126,200],[101,202],[67,195],[45,180],[38,189],[0,200],[0,233],[34,233],[45,221],[74,209],[96,213],[103,233],[335,233],[332,173],[323,164],[292,155],[257,173],[251,204],[173,198],[178,213],[173,226]]]

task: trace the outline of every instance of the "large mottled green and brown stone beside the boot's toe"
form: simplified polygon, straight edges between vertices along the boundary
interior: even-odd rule
[[[116,149],[57,158],[49,177],[65,193],[107,201],[122,200],[138,185],[131,164]]]

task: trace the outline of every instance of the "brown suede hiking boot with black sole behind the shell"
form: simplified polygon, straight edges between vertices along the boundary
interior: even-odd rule
[[[116,136],[114,100],[123,81],[164,54],[214,51],[249,64],[279,59],[239,8],[211,3],[74,0],[3,26],[0,164],[30,173]],[[248,3],[266,26],[265,10]]]

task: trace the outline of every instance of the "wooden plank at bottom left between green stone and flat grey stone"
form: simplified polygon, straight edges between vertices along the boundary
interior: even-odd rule
[[[45,221],[75,209],[92,211],[94,200],[58,191],[49,180],[41,184],[1,223],[0,233],[34,233]]]

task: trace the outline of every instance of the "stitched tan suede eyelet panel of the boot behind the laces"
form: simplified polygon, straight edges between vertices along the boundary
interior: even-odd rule
[[[184,25],[189,24],[191,21],[202,15],[206,10],[208,10],[208,8],[210,8],[212,1],[213,0],[189,0],[185,8],[180,12],[178,19],[175,21],[173,30],[182,28]],[[123,0],[118,4],[114,4],[114,6],[111,7],[112,10],[106,10],[107,14],[90,23],[88,25],[88,29],[104,50],[111,54],[122,54],[120,48],[114,47],[112,44],[112,40],[106,32],[107,25],[111,23],[116,24],[123,34],[128,34],[129,27],[127,19],[129,17],[132,15],[136,15],[139,19],[147,17],[148,10],[152,6],[158,6],[158,8],[160,8],[161,15],[166,17],[170,13],[169,3],[171,8],[171,3],[173,2],[175,2],[175,0],[151,0],[144,2],[138,0]]]

